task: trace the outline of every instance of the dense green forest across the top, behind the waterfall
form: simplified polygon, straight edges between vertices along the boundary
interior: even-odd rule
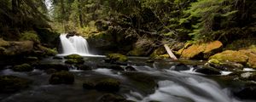
[[[132,46],[119,49],[128,52],[177,42],[227,45],[255,37],[253,0],[4,0],[1,7],[0,33],[7,40],[26,31],[37,31],[44,42],[50,37],[44,33],[51,31],[84,37],[100,32],[114,37],[113,43]]]

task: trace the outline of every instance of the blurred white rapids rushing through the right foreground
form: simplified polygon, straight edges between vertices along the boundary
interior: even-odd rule
[[[154,94],[144,97],[140,93],[131,91],[130,94],[125,94],[127,99],[140,102],[152,100],[160,102],[241,102],[232,97],[228,89],[221,88],[217,82],[204,77],[171,70],[156,71],[154,75],[169,78],[158,82],[159,88]]]

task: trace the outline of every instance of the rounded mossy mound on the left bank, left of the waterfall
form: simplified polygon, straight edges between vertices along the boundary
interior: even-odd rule
[[[38,34],[35,31],[25,31],[21,34],[20,41],[27,41],[27,40],[36,42],[36,43],[40,42]]]

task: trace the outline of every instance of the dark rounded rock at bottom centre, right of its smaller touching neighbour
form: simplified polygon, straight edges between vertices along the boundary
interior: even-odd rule
[[[96,83],[95,88],[100,91],[118,92],[120,88],[120,82],[117,79],[103,79]]]

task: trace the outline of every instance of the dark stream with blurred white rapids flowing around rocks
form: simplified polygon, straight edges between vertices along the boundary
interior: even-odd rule
[[[97,65],[106,65],[104,57],[84,57],[84,65],[92,66],[90,71],[80,71],[70,67],[75,76],[73,85],[50,85],[49,77],[44,71],[35,69],[31,72],[15,72],[10,69],[0,71],[0,75],[13,75],[32,80],[29,88],[15,94],[0,94],[1,102],[96,102],[106,92],[84,89],[83,82],[87,79],[99,80],[111,77],[121,82],[119,94],[125,99],[137,102],[253,102],[241,100],[230,92],[227,86],[204,75],[194,72],[193,65],[185,71],[175,70],[177,62],[160,60],[146,63],[148,58],[129,57],[128,65],[136,71],[115,71]],[[65,59],[42,59],[41,64],[64,64]],[[201,63],[201,61],[196,61]],[[122,65],[126,67],[126,65]],[[136,75],[137,77],[129,77]],[[155,82],[155,86],[149,85]]]

